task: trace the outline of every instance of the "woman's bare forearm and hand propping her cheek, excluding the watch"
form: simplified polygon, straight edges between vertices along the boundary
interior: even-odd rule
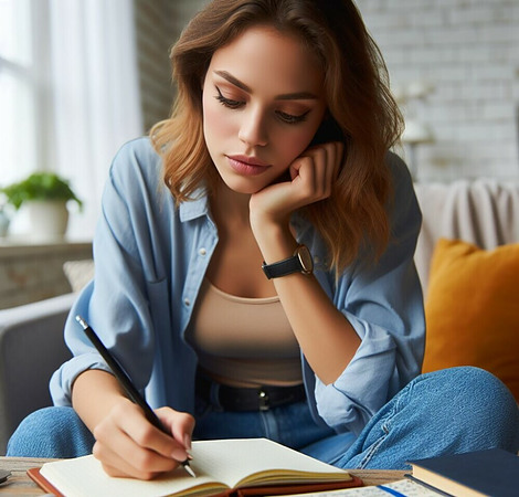
[[[290,165],[292,181],[252,195],[251,226],[267,264],[294,254],[297,242],[290,214],[331,194],[342,152],[340,142],[311,147]],[[274,278],[273,284],[306,360],[325,384],[332,383],[359,348],[359,336],[315,276],[294,273]]]

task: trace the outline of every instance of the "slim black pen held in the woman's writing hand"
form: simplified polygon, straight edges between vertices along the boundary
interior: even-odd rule
[[[135,388],[134,383],[131,383],[131,380],[129,379],[128,374],[124,371],[124,369],[120,367],[120,364],[117,362],[117,360],[112,356],[112,353],[108,351],[108,349],[103,345],[100,341],[99,337],[96,335],[96,332],[92,329],[92,327],[86,322],[81,316],[76,316],[76,321],[83,327],[83,330],[85,331],[85,335],[88,337],[88,339],[92,341],[94,347],[97,349],[97,351],[100,353],[103,359],[106,361],[106,363],[112,369],[112,372],[114,376],[117,378],[119,381],[120,385],[124,388],[125,392],[127,395],[142,409],[145,412],[146,419],[156,427],[158,427],[160,431],[163,433],[168,434],[171,436],[171,433],[169,433],[163,424],[160,422],[160,420],[157,417],[157,414],[152,411],[152,409],[149,406],[149,404],[146,402],[146,400],[142,398],[142,395],[139,393],[139,391]],[[189,459],[182,461],[180,463],[184,469],[193,477],[195,478],[197,475],[194,474],[193,469],[189,465]]]

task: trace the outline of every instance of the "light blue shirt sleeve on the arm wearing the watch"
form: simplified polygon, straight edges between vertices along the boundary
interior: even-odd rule
[[[318,414],[338,432],[359,433],[420,373],[423,360],[423,297],[413,261],[422,216],[405,165],[394,155],[389,161],[394,178],[390,244],[375,265],[349,268],[332,297],[361,345],[333,383],[315,378]]]

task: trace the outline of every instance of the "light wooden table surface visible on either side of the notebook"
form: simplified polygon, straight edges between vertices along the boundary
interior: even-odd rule
[[[3,484],[0,484],[0,495],[3,496],[35,496],[45,493],[32,482],[25,474],[31,467],[41,467],[42,464],[52,459],[35,459],[29,457],[0,457],[0,469],[11,472],[11,476]],[[364,485],[381,485],[384,483],[402,479],[405,472],[389,469],[351,469],[354,476],[364,482]]]

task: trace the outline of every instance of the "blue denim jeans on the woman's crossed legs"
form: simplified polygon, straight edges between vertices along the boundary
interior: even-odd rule
[[[477,368],[420,376],[368,423],[359,436],[318,426],[306,402],[264,412],[223,412],[197,405],[194,438],[267,437],[343,468],[406,469],[406,461],[491,447],[519,450],[519,410],[509,390]],[[28,416],[9,456],[75,457],[94,438],[72,408]]]

